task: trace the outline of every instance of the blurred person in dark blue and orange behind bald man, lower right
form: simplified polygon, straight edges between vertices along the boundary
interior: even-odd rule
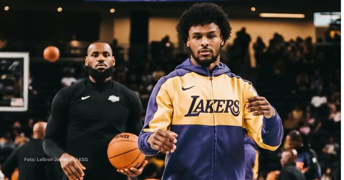
[[[320,180],[321,169],[318,157],[309,144],[303,144],[299,131],[290,131],[284,142],[284,149],[295,149],[297,151],[298,168],[304,173],[307,180]]]

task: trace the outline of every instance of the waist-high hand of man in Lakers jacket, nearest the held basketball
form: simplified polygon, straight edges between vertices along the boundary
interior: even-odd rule
[[[176,149],[174,143],[177,142],[175,139],[177,136],[178,135],[172,131],[158,129],[149,136],[147,142],[153,149],[168,154],[169,152],[174,152]]]

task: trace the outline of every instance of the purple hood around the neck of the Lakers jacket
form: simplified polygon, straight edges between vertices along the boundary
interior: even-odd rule
[[[184,69],[184,70],[188,70],[188,71],[192,71],[195,72],[197,74],[200,74],[202,76],[219,76],[221,74],[225,74],[225,73],[230,73],[229,68],[223,64],[222,62],[220,62],[219,65],[216,65],[213,69],[213,71],[209,71],[208,68],[206,66],[195,66],[191,63],[190,58],[188,58],[187,60],[185,60],[183,63],[179,64],[175,70],[178,69]]]

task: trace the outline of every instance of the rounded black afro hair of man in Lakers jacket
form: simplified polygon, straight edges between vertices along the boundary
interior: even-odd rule
[[[186,45],[191,27],[210,23],[218,25],[225,44],[232,32],[228,15],[220,6],[208,2],[195,3],[182,14],[177,25],[179,39]]]

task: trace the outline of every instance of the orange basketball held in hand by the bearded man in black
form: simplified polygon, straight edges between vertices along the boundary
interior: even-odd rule
[[[108,146],[108,158],[117,169],[138,168],[144,156],[137,145],[138,137],[131,133],[121,133],[114,137]]]

